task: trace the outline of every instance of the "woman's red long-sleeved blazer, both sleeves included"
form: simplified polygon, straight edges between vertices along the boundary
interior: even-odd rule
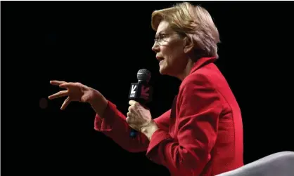
[[[217,175],[241,167],[241,111],[214,61],[203,57],[193,65],[172,108],[155,119],[160,129],[150,142],[143,134],[129,137],[126,116],[109,101],[105,118],[96,115],[95,129],[127,151],[147,151],[148,158],[173,176]]]

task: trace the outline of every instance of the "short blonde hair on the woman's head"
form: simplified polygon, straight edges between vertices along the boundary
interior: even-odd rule
[[[171,8],[153,11],[151,26],[155,31],[162,20],[167,21],[179,34],[186,34],[195,44],[194,47],[198,50],[196,54],[218,57],[219,32],[205,8],[184,2]]]

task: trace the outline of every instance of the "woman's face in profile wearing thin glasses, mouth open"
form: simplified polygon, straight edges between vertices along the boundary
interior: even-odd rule
[[[152,50],[159,61],[160,74],[179,76],[184,72],[188,56],[184,53],[184,39],[170,28],[166,21],[160,22]]]

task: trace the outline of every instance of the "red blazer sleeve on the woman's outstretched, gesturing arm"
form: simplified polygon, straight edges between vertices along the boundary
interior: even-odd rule
[[[165,130],[167,126],[165,122],[165,119],[167,119],[166,116],[169,116],[168,111],[155,120],[162,130]],[[115,104],[108,101],[103,119],[96,114],[94,129],[110,137],[115,143],[119,144],[120,147],[129,152],[146,151],[149,144],[148,138],[143,135],[143,133],[138,133],[134,138],[129,137],[132,128],[127,124],[126,118],[127,117],[117,109]]]

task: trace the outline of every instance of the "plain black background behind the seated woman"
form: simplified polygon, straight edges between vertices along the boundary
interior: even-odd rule
[[[170,1],[1,1],[4,175],[169,175],[145,153],[124,151],[94,130],[89,104],[50,80],[81,82],[127,113],[136,72],[152,73],[151,113],[170,108],[179,81],[160,76],[151,13]],[[244,162],[293,151],[293,3],[191,1],[219,29],[219,60],[243,114]]]

